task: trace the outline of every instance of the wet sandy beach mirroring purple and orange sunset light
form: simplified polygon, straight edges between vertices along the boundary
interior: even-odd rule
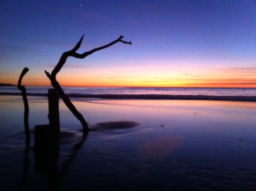
[[[83,137],[60,101],[61,138],[42,160],[33,149],[34,126],[48,124],[48,100],[28,101],[26,147],[22,98],[0,96],[1,190],[256,187],[255,102],[76,97],[90,128]]]

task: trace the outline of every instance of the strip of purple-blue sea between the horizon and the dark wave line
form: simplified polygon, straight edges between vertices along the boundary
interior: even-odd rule
[[[27,93],[47,94],[52,87],[26,87]],[[150,94],[150,95],[204,95],[204,96],[256,96],[256,88],[86,88],[86,87],[63,87],[66,94],[76,95],[99,95],[99,94]],[[16,87],[0,87],[0,93],[20,93]]]

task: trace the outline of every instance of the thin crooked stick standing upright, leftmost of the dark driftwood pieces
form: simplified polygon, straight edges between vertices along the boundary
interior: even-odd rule
[[[29,132],[29,125],[28,125],[28,113],[29,113],[29,108],[28,108],[28,99],[27,99],[27,94],[26,94],[26,88],[21,85],[21,81],[23,76],[28,72],[28,68],[24,68],[20,74],[20,78],[18,81],[18,86],[17,88],[21,91],[22,93],[22,98],[24,102],[24,127],[25,127],[25,134],[26,134],[26,145],[30,144],[30,132]]]

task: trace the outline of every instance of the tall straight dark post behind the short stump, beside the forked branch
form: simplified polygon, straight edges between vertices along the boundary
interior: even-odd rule
[[[58,137],[60,135],[60,115],[59,115],[59,94],[58,90],[48,90],[48,102],[49,102],[49,125],[50,135]]]

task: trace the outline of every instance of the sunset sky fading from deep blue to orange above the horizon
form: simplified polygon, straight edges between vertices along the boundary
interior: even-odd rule
[[[51,86],[256,88],[255,0],[1,0],[0,83]]]

